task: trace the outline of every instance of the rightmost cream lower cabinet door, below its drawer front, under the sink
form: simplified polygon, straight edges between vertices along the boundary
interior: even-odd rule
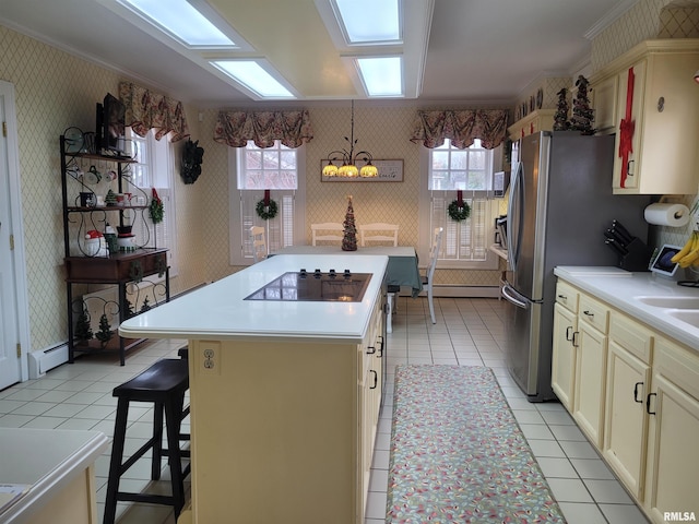
[[[666,512],[696,512],[699,486],[699,401],[653,374],[645,508],[655,523]],[[685,519],[688,520],[688,519]]]

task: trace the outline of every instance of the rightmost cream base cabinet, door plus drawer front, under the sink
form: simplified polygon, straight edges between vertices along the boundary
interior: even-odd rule
[[[651,392],[644,508],[655,523],[666,512],[699,517],[699,355],[656,337]],[[687,520],[687,519],[685,519]]]

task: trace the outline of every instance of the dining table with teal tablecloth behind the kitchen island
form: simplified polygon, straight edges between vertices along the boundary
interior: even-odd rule
[[[410,246],[358,247],[356,251],[343,251],[340,246],[289,246],[271,254],[346,254],[347,258],[360,257],[363,254],[384,254],[389,258],[389,263],[386,269],[386,279],[389,288],[410,287],[413,298],[416,298],[423,290],[423,278],[417,266],[417,253],[415,252],[415,248]],[[351,263],[348,260],[347,264],[350,265]],[[307,269],[311,270],[311,267]],[[330,267],[321,269],[327,271]],[[333,269],[336,271],[345,270],[345,267]],[[387,331],[389,333],[393,331],[391,318],[394,310],[394,293],[389,293],[389,311],[387,318]]]

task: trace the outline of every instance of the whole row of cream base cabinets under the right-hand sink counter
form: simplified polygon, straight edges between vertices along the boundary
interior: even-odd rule
[[[561,333],[572,321],[570,297],[579,298],[574,361],[556,356],[554,342],[554,391],[569,391],[561,377],[572,374],[572,409],[565,394],[561,402],[653,523],[668,512],[696,517],[699,353],[565,281],[556,289]]]

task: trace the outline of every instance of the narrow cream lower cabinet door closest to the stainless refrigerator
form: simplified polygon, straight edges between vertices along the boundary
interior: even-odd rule
[[[554,355],[552,362],[552,388],[569,412],[573,404],[576,378],[576,347],[573,333],[578,330],[578,317],[561,306],[554,306]]]

